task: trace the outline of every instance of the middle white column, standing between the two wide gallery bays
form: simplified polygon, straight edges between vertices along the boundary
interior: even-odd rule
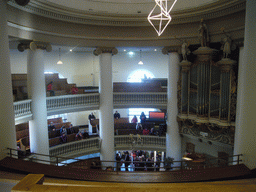
[[[117,54],[117,49],[113,47],[100,47],[94,50],[94,55],[100,56],[99,135],[101,138],[100,159],[102,161],[115,160],[112,82],[112,55],[114,54]],[[113,163],[103,163],[102,165],[114,167]]]

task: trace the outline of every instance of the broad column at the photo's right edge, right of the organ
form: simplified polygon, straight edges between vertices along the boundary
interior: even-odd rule
[[[246,1],[245,36],[239,61],[234,155],[250,169],[256,168],[256,1]]]

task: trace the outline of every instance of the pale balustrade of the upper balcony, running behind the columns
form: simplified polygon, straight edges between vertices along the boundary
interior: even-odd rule
[[[114,107],[161,107],[166,108],[167,93],[114,93]],[[33,115],[32,100],[14,102],[15,118]],[[99,109],[100,94],[62,95],[46,98],[48,115]]]

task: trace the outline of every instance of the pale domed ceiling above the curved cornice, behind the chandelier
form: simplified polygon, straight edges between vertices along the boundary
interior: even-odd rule
[[[155,6],[154,0],[39,0],[59,8],[104,14],[148,14]],[[173,11],[195,8],[218,0],[178,0]],[[168,0],[168,7],[174,0]]]

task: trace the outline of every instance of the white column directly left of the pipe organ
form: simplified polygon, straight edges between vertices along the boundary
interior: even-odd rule
[[[179,78],[180,57],[177,49],[164,48],[163,54],[169,55],[168,63],[168,85],[167,85],[167,133],[166,133],[166,157],[174,158],[174,161],[181,160],[181,138],[177,122],[178,98],[177,84]],[[178,166],[178,165],[174,165]]]

